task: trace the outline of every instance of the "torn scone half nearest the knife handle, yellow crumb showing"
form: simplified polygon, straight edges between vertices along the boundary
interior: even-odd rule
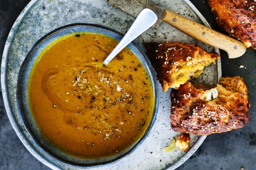
[[[200,76],[203,68],[219,58],[215,53],[207,53],[199,45],[181,42],[145,44],[146,54],[156,70],[157,78],[167,91],[169,87],[178,89],[191,78]]]

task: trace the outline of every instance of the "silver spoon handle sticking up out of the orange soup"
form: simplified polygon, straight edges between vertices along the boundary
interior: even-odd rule
[[[156,23],[156,21],[157,16],[152,10],[148,8],[142,10],[121,41],[117,44],[113,51],[110,52],[107,58],[104,59],[103,64],[107,65],[119,52],[121,52],[122,49],[124,49],[130,42],[141,35],[144,31],[149,29],[153,24]]]

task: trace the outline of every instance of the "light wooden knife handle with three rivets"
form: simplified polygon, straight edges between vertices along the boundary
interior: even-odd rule
[[[225,50],[228,52],[229,59],[240,57],[246,51],[246,47],[242,42],[182,17],[170,10],[165,10],[162,20],[201,42]]]

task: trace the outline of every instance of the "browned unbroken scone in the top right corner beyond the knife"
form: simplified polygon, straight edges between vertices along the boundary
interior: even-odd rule
[[[256,49],[256,1],[208,0],[215,21],[229,35]]]

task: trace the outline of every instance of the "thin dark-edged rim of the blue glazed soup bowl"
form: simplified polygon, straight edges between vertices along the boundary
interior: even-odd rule
[[[118,156],[117,158],[113,159],[113,160],[109,160],[103,163],[92,163],[92,164],[76,164],[76,163],[69,163],[66,160],[62,160],[59,157],[54,156],[53,154],[49,153],[46,149],[44,149],[39,142],[34,138],[34,136],[32,135],[32,133],[30,132],[29,128],[27,127],[26,123],[25,123],[25,119],[23,117],[22,111],[21,111],[21,100],[20,100],[20,94],[21,94],[21,78],[22,78],[22,74],[23,71],[29,61],[29,59],[32,56],[32,53],[36,50],[36,47],[39,46],[39,44],[41,44],[41,42],[43,42],[45,39],[47,39],[48,37],[50,37],[51,35],[54,35],[55,33],[67,29],[67,28],[72,28],[72,27],[90,27],[90,28],[97,28],[97,29],[102,29],[104,31],[108,31],[111,33],[114,33],[115,35],[119,36],[120,38],[122,38],[124,35],[121,34],[120,32],[112,29],[112,28],[108,28],[99,24],[85,24],[85,23],[75,23],[75,24],[68,24],[65,26],[62,26],[60,28],[57,28],[51,32],[49,32],[48,34],[44,35],[42,38],[40,38],[35,45],[33,45],[32,49],[29,51],[28,55],[25,57],[24,61],[22,62],[21,65],[21,69],[19,71],[18,74],[18,83],[17,83],[17,104],[18,104],[18,112],[19,112],[19,116],[21,118],[21,122],[22,125],[24,126],[26,132],[28,132],[29,137],[32,139],[32,142],[35,144],[35,146],[41,150],[44,154],[46,154],[47,156],[49,156],[50,158],[52,158],[53,160],[57,161],[60,164],[64,164],[67,166],[71,166],[71,167],[76,167],[76,168],[92,168],[92,167],[102,167],[102,166],[107,166],[107,165],[111,165],[116,163],[117,161],[123,159],[124,157],[130,155],[132,152],[135,151],[135,149],[137,149],[142,142],[146,139],[146,137],[149,135],[150,130],[152,129],[155,121],[156,121],[156,115],[157,115],[157,111],[158,111],[158,105],[159,105],[159,90],[158,90],[158,83],[157,83],[157,78],[156,78],[156,73],[153,70],[153,67],[151,65],[151,62],[149,61],[149,58],[146,56],[145,52],[143,52],[142,49],[139,48],[139,45],[136,45],[134,42],[131,42],[129,45],[132,45],[137,52],[139,52],[139,54],[142,56],[142,58],[145,60],[147,67],[149,68],[149,77],[150,79],[153,78],[153,89],[154,89],[154,97],[155,97],[155,105],[154,105],[154,111],[153,111],[153,116],[152,119],[150,121],[149,127],[147,128],[146,132],[142,135],[142,137],[139,139],[139,141],[135,144],[135,146],[132,147],[132,149],[130,149],[128,152]],[[144,64],[143,64],[144,65]],[[145,66],[146,67],[146,66]],[[44,156],[45,157],[45,156]],[[47,158],[46,158],[47,159]],[[54,162],[53,162],[54,163]],[[56,164],[56,163],[54,163]]]

